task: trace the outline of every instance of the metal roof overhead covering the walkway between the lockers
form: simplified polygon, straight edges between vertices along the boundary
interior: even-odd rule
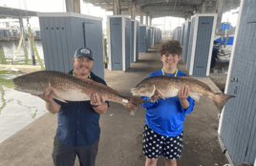
[[[132,0],[136,3],[137,15],[139,11],[148,13],[152,18],[174,16],[184,18],[193,10],[201,12],[203,1],[206,2],[206,12],[216,12],[217,0]],[[105,10],[113,10],[113,0],[83,0]],[[224,11],[236,9],[240,0],[225,0]],[[122,15],[131,14],[131,0],[119,0]]]

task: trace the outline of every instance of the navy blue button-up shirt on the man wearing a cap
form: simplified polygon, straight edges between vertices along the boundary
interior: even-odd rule
[[[73,71],[70,74],[73,74]],[[91,73],[91,79],[107,85],[94,73]],[[57,114],[58,140],[64,145],[75,147],[94,144],[100,135],[99,114],[93,109],[90,101],[67,101],[68,103],[56,99],[54,101],[61,106]],[[106,102],[109,105],[109,102]]]

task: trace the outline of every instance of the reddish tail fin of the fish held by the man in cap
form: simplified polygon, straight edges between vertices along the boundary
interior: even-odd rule
[[[138,97],[124,97],[128,100],[128,102],[122,102],[122,105],[129,111],[132,116],[135,116],[135,111],[139,107],[140,104],[147,102],[142,98]]]

